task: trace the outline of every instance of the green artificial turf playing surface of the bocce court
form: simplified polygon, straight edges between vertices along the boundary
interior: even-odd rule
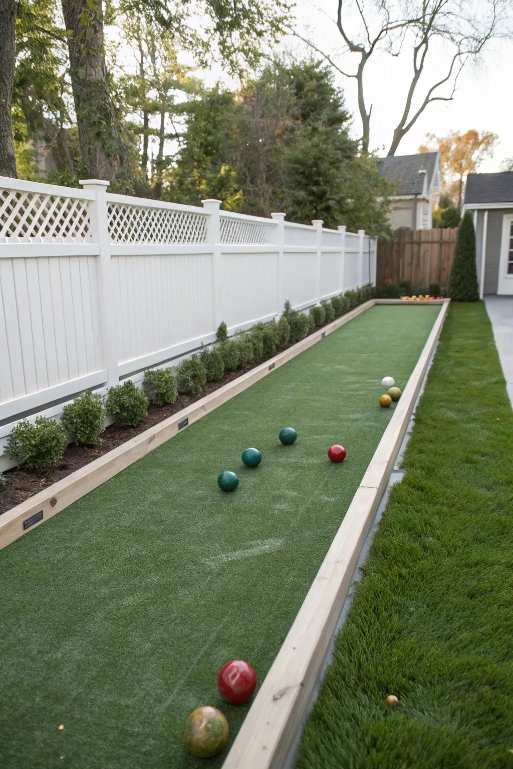
[[[233,739],[218,670],[265,676],[391,417],[381,378],[404,386],[438,311],[371,308],[0,552],[2,769],[205,766],[200,704]]]

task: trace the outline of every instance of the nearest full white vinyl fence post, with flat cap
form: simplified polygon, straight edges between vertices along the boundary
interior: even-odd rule
[[[103,179],[81,179],[85,190],[95,193],[89,201],[89,223],[93,242],[98,243],[98,298],[100,325],[102,328],[103,365],[107,369],[107,387],[119,384],[118,335],[112,289],[111,238],[108,232],[107,188],[110,182]]]

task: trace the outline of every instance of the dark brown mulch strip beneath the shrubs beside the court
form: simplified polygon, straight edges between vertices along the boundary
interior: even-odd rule
[[[248,364],[238,368],[237,371],[229,371],[222,380],[208,382],[205,390],[199,395],[178,395],[175,403],[165,404],[165,406],[150,406],[147,416],[136,428],[124,428],[116,424],[109,425],[102,434],[102,443],[98,446],[77,446],[70,443],[62,461],[55,468],[35,472],[27,472],[18,468],[6,471],[3,474],[6,486],[3,491],[0,490],[0,514],[15,508],[17,504],[31,498],[34,494],[38,494],[38,491],[60,481],[75,470],[83,468],[85,464],[98,459],[102,454],[107,454],[108,451],[112,451],[113,448],[129,441],[130,438],[135,438],[135,435],[148,430],[154,424],[164,421],[172,414],[176,414],[177,411],[182,411],[182,408],[187,408],[195,401],[205,398],[205,395],[218,390],[223,384],[228,384],[247,371],[251,371],[252,368],[254,366]]]

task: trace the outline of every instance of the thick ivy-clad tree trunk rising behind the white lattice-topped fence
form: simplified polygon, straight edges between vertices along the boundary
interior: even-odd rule
[[[108,88],[102,0],[62,0],[62,12],[71,32],[69,63],[82,160],[92,178],[128,179],[128,151]]]

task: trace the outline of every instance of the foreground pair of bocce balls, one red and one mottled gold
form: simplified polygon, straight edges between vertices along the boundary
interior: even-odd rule
[[[218,691],[232,705],[245,704],[256,687],[256,673],[244,660],[227,662],[218,673]],[[217,707],[201,705],[189,715],[185,724],[185,744],[198,758],[211,758],[225,747],[228,721]]]

